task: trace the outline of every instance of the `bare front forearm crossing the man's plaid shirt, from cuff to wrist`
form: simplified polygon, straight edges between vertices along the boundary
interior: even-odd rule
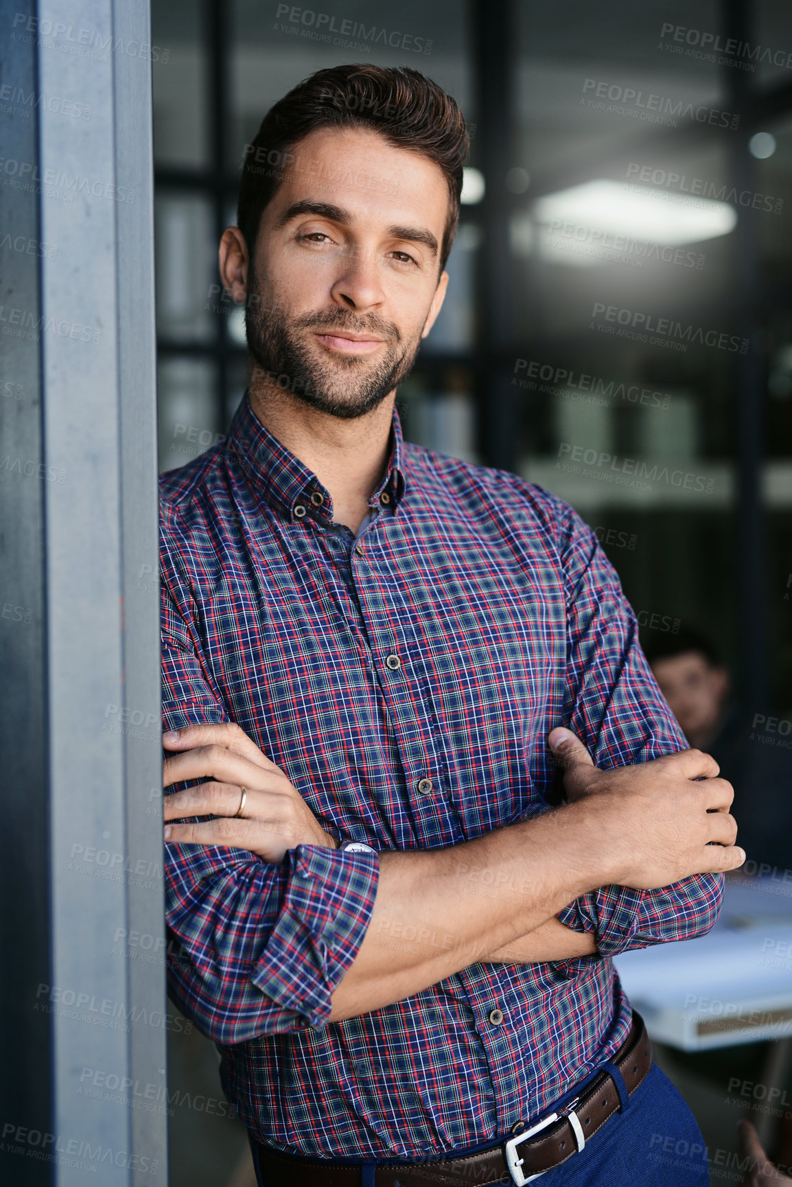
[[[372,920],[329,1021],[401,1001],[479,960],[505,959],[496,953],[600,886],[583,814],[568,805],[462,845],[380,853]],[[550,942],[560,953],[558,937],[547,928],[533,959],[562,959],[545,954]],[[578,942],[571,932],[570,942]]]

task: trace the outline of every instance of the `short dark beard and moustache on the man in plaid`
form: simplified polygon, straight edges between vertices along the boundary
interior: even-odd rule
[[[248,350],[256,366],[274,376],[279,389],[302,404],[341,420],[365,417],[412,370],[420,338],[405,344],[393,323],[375,315],[356,317],[341,307],[289,318],[283,306],[261,299],[252,267],[249,281],[245,305]],[[318,343],[311,348],[300,330],[376,335],[385,342],[385,354],[376,361],[369,355],[325,354]],[[284,379],[289,380],[285,388]]]

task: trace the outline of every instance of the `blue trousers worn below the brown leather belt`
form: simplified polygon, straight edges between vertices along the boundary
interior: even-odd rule
[[[709,1187],[709,1160],[696,1118],[658,1065],[652,1065],[631,1097],[620,1096],[620,1112],[579,1154],[537,1179],[537,1187]],[[259,1187],[270,1187],[261,1178],[255,1154],[253,1161]],[[372,1168],[367,1163],[361,1187],[373,1183]],[[427,1172],[431,1174],[431,1163]],[[427,1178],[426,1183],[431,1187],[432,1180]],[[492,1187],[507,1185],[512,1185],[508,1178]]]

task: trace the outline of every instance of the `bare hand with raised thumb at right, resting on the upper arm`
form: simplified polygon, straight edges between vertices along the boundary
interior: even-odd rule
[[[579,738],[565,729],[547,736],[564,767],[564,789],[585,820],[583,837],[602,858],[602,884],[654,890],[693,874],[734,870],[746,859],[734,844],[729,815],[734,788],[717,779],[715,758],[701,750],[598,770]]]

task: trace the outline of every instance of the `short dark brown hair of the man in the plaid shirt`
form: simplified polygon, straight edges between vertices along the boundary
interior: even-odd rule
[[[255,139],[245,146],[240,180],[236,223],[251,258],[261,211],[286,174],[291,150],[309,133],[328,127],[372,128],[389,144],[439,165],[450,198],[439,275],[460,226],[462,166],[470,139],[455,100],[410,66],[351,62],[317,70],[270,108]],[[369,178],[369,184],[375,180]]]

